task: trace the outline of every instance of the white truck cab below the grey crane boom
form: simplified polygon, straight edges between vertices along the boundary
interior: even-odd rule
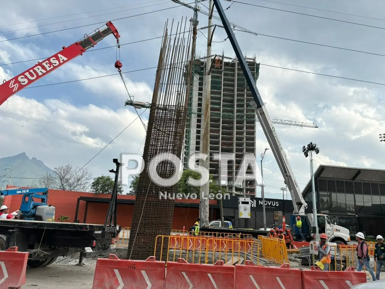
[[[313,214],[306,214],[306,217],[313,225]],[[325,233],[328,235],[328,242],[336,244],[349,244],[350,231],[344,227],[331,223],[328,215],[317,214],[317,223],[319,233]]]

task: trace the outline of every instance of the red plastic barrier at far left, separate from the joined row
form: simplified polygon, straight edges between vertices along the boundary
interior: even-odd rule
[[[27,252],[17,252],[17,247],[0,251],[0,288],[19,288],[25,285]]]

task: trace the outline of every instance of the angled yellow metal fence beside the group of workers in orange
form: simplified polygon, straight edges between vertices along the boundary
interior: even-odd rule
[[[262,256],[265,259],[278,264],[289,263],[285,240],[262,235],[258,236],[258,240],[262,242]]]

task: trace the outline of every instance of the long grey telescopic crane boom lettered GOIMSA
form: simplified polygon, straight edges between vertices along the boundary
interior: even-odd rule
[[[301,190],[295,180],[293,170],[291,170],[289,161],[286,158],[286,153],[283,150],[282,144],[278,138],[278,134],[273,126],[271,118],[269,117],[266,106],[262,101],[261,95],[259,94],[256,83],[251,75],[251,71],[246,63],[246,59],[243,57],[238,41],[233,33],[233,29],[231,29],[229,20],[226,18],[223,7],[219,0],[214,0],[214,5],[222,20],[222,24],[226,30],[227,36],[229,37],[231,45],[233,46],[251,94],[253,95],[254,101],[251,101],[250,104],[254,108],[254,111],[259,119],[259,123],[261,123],[263,132],[268,140],[271,150],[273,151],[278,166],[280,167],[285,184],[290,191],[291,199],[293,200],[294,213],[303,215],[305,213],[305,208],[307,208],[307,204],[302,197]]]

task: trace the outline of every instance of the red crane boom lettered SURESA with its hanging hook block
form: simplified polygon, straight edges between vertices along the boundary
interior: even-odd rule
[[[8,81],[3,81],[3,84],[0,85],[0,105],[3,104],[9,97],[23,88],[27,87],[31,83],[37,81],[38,79],[46,76],[50,72],[54,71],[63,64],[69,62],[79,55],[94,47],[97,42],[104,39],[110,34],[114,34],[117,43],[119,44],[119,33],[112,22],[107,22],[105,27],[102,30],[96,29],[95,33],[92,35],[84,35],[84,39],[75,42],[69,47],[63,46],[63,50],[57,52],[56,54],[48,57],[42,62],[37,62],[37,64],[30,69],[27,69],[23,73],[20,73],[18,76],[13,77]],[[119,60],[115,62],[115,67],[120,71],[122,64]]]

